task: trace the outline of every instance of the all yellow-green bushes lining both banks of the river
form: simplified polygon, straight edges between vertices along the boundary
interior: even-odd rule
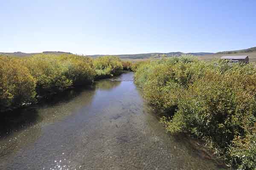
[[[197,136],[228,165],[255,170],[256,68],[252,64],[205,62],[191,56],[136,63],[73,54],[0,56],[0,110],[90,85],[122,70],[136,71],[135,83],[155,111],[165,115],[160,122],[168,132]]]

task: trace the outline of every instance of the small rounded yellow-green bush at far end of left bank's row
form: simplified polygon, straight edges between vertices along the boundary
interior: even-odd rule
[[[97,78],[113,77],[123,70],[122,62],[118,57],[105,56],[93,59],[93,66]]]

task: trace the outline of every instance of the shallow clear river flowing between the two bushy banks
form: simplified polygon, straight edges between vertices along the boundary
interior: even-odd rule
[[[131,72],[16,112],[0,122],[0,170],[220,169],[165,132]]]

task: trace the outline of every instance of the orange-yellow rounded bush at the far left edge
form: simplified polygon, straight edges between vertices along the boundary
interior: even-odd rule
[[[35,85],[20,59],[0,56],[0,110],[35,101]]]

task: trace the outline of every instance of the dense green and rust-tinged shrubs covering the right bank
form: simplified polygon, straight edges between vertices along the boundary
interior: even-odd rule
[[[203,139],[239,170],[256,169],[256,68],[191,56],[141,64],[135,82],[168,132]],[[172,116],[173,115],[173,116]]]

